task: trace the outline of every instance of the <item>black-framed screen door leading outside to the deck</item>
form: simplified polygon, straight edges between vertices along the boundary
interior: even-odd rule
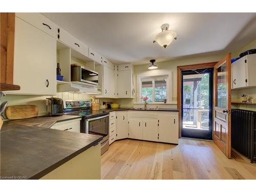
[[[182,137],[211,139],[212,69],[183,75]]]

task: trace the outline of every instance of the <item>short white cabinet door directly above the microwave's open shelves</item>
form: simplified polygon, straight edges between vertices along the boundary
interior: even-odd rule
[[[73,48],[74,50],[88,57],[89,48],[87,47],[87,45],[83,44],[80,40],[68,33],[66,30],[62,28],[58,29],[58,39]]]

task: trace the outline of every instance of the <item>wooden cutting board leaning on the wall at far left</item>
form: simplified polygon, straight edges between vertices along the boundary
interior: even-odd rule
[[[8,119],[26,119],[37,115],[38,108],[36,105],[13,105],[6,108],[6,117]]]

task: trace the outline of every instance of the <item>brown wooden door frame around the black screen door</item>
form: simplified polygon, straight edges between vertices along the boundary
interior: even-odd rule
[[[214,68],[218,61],[197,63],[192,65],[177,66],[177,108],[179,110],[179,138],[181,138],[181,71],[193,70],[193,69],[204,69]],[[215,77],[215,74],[214,74]],[[214,93],[213,93],[214,94]],[[212,124],[213,126],[213,124]],[[213,136],[213,135],[212,135]]]

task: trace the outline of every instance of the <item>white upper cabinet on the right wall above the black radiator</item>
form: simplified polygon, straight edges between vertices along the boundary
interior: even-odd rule
[[[232,89],[256,86],[256,54],[246,55],[231,64]]]

